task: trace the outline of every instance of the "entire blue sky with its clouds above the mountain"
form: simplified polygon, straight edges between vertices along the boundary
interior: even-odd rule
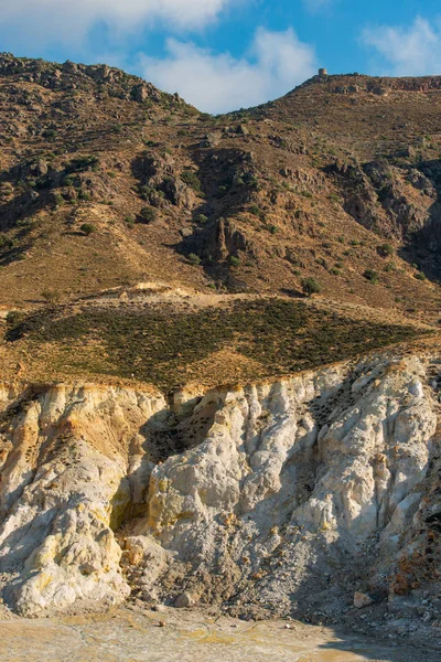
[[[107,63],[207,113],[329,73],[441,74],[440,0],[1,0],[0,51]]]

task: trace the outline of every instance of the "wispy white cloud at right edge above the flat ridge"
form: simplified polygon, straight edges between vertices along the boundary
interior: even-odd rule
[[[383,70],[378,73],[422,76],[441,70],[441,26],[421,17],[407,28],[381,25],[364,30],[362,43],[375,50],[379,60],[375,64]]]

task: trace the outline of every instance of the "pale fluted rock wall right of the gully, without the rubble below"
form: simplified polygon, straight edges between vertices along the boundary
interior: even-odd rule
[[[219,394],[204,444],[154,469],[151,525],[181,553],[196,521],[233,511],[270,527],[291,513],[353,542],[385,527],[427,471],[437,415],[423,382],[423,366],[411,360],[352,384],[344,370],[331,370]],[[332,406],[345,388],[318,424],[320,403]],[[302,472],[308,478],[312,465],[314,488],[302,499]],[[297,508],[297,500],[304,502]]]

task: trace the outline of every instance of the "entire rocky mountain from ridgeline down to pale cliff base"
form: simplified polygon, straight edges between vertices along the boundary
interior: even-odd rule
[[[441,631],[440,106],[0,55],[4,610]]]

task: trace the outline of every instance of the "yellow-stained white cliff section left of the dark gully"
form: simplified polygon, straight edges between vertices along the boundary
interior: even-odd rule
[[[12,406],[15,394],[2,398]],[[110,527],[138,489],[139,429],[161,397],[64,385],[22,394],[3,414],[0,568],[23,615],[129,595]],[[139,461],[138,461],[139,465]],[[128,476],[129,474],[129,476]],[[148,482],[148,474],[143,477]]]

